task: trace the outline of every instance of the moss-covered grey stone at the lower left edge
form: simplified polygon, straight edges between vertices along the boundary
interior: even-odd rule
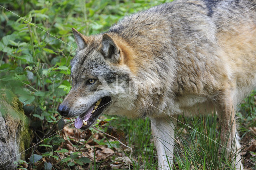
[[[31,136],[22,103],[10,90],[0,89],[0,170],[16,169],[14,161],[25,159]]]

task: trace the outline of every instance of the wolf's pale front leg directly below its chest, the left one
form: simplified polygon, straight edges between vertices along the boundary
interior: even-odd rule
[[[151,118],[151,130],[158,155],[158,169],[172,169],[176,117]]]

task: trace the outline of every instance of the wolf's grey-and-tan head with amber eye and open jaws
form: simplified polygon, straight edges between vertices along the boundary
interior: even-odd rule
[[[130,110],[136,92],[129,92],[132,67],[124,61],[130,53],[125,42],[115,36],[99,34],[86,37],[72,28],[78,52],[71,61],[72,88],[58,112],[78,118],[75,127],[86,129],[102,114]],[[125,64],[124,64],[125,63]]]

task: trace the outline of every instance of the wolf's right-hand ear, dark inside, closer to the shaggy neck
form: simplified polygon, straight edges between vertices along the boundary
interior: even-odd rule
[[[102,36],[102,51],[105,58],[110,59],[112,62],[120,62],[120,51],[114,40],[108,35]]]

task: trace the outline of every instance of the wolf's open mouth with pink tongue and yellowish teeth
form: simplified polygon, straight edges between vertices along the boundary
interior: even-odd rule
[[[75,120],[75,127],[86,130],[98,119],[102,111],[108,106],[111,98],[109,96],[103,97],[93,104],[86,112],[79,115]]]

